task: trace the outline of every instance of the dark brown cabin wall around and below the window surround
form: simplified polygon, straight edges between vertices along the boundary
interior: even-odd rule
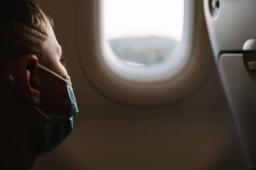
[[[88,14],[95,9],[94,1],[85,1]],[[54,19],[80,112],[72,134],[51,153],[38,157],[35,169],[244,169],[211,50],[202,54],[211,62],[208,76],[188,98],[157,108],[120,105],[96,92],[82,72],[76,51],[76,1],[36,2]],[[205,32],[202,4],[197,9],[198,32]],[[89,50],[92,20],[86,15],[79,21],[88,22],[84,48]],[[202,41],[206,47],[197,48],[208,48],[209,38]]]

